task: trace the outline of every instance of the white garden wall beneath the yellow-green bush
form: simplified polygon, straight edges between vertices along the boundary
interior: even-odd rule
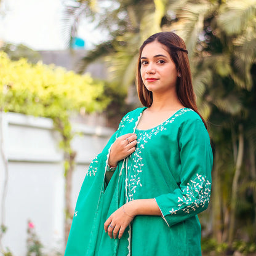
[[[31,220],[45,251],[63,252],[65,184],[63,153],[58,147],[60,136],[50,119],[2,113],[1,121],[0,139],[9,161],[4,208],[8,230],[2,244],[15,256],[25,256],[26,229]],[[90,161],[100,153],[113,130],[85,124],[73,124],[73,129],[82,133],[72,141],[77,152],[72,192],[74,206]],[[1,156],[1,199],[7,177],[3,161]]]

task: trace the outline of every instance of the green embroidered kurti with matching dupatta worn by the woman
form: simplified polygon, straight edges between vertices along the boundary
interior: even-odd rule
[[[212,150],[206,128],[182,108],[159,126],[138,130],[145,108],[122,119],[117,132],[92,161],[79,193],[65,256],[199,256],[197,214],[209,204]],[[108,186],[104,177],[117,137],[135,132],[137,148],[120,161]],[[121,239],[110,239],[106,219],[134,199],[154,198],[162,216],[138,215]]]

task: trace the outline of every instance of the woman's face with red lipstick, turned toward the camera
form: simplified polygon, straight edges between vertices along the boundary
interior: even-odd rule
[[[157,94],[175,90],[177,68],[164,44],[158,41],[146,44],[140,62],[140,74],[146,89]]]

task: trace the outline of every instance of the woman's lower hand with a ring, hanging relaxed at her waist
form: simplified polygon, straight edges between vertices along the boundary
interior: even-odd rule
[[[124,230],[126,230],[126,227],[134,219],[135,215],[131,214],[132,210],[130,210],[127,206],[130,206],[129,203],[124,204],[124,206],[121,206],[118,210],[113,212],[113,214],[111,214],[104,223],[104,230],[105,232],[108,232],[110,238],[113,238],[114,236],[114,239],[116,239],[116,237],[118,236],[118,238],[120,239],[122,237],[122,234],[124,234]],[[129,215],[126,212],[127,209],[124,207],[127,207],[127,209],[129,209]]]

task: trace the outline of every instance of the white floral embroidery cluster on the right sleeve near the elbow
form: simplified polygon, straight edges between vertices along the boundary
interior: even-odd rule
[[[196,208],[204,207],[210,201],[210,182],[206,177],[196,174],[194,180],[187,183],[186,188],[182,191],[182,198],[178,197],[178,209],[170,210],[170,214],[176,214],[178,210],[183,210],[186,214],[195,211]]]

